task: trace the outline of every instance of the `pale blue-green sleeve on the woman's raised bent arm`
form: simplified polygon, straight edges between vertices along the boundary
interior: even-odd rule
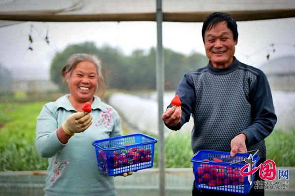
[[[53,103],[46,104],[37,118],[35,147],[41,157],[52,157],[66,146],[57,136],[57,112]]]

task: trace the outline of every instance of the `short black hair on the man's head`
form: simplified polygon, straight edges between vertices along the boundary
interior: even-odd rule
[[[237,41],[237,36],[238,36],[237,25],[236,25],[236,21],[233,19],[233,17],[228,13],[215,12],[215,13],[207,16],[207,18],[203,22],[202,37],[203,37],[204,43],[205,43],[205,38],[204,38],[205,31],[210,30],[214,25],[216,25],[217,23],[220,23],[222,21],[225,21],[227,23],[228,28],[231,29],[234,34],[234,40]]]

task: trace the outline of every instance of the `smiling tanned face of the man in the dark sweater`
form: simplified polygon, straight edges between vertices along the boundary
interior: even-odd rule
[[[234,35],[227,23],[222,21],[205,31],[204,45],[207,57],[215,68],[227,68],[233,62],[235,54]]]

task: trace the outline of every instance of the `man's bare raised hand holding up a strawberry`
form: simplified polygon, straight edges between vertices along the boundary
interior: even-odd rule
[[[181,107],[173,106],[167,108],[167,110],[162,115],[162,120],[164,123],[170,126],[176,126],[180,122],[181,118]]]

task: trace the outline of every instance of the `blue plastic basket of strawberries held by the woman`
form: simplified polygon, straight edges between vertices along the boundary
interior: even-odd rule
[[[141,133],[94,141],[98,170],[114,176],[151,168],[156,142]]]

